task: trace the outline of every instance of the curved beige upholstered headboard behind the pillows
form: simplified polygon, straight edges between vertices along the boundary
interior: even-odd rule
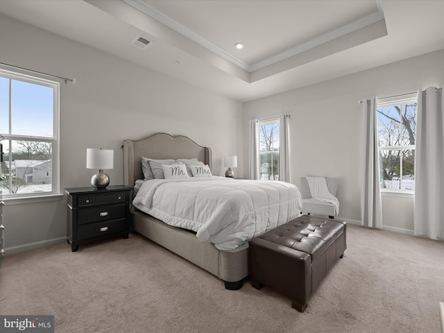
[[[123,141],[123,182],[133,187],[137,179],[144,179],[142,156],[155,160],[194,158],[212,167],[212,151],[199,146],[184,135],[157,133],[145,139]]]

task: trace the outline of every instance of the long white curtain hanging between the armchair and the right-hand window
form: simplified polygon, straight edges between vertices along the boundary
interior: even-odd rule
[[[361,223],[368,227],[382,228],[376,98],[364,100],[362,112],[364,174],[361,186]]]

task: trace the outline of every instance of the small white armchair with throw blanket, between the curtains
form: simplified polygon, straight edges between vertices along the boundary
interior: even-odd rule
[[[334,219],[334,216],[339,213],[339,200],[336,198],[337,189],[338,180],[336,178],[301,177],[302,213],[327,215],[330,219]]]

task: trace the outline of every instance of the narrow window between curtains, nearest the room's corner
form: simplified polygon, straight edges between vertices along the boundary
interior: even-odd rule
[[[279,180],[279,118],[258,122],[259,179]]]

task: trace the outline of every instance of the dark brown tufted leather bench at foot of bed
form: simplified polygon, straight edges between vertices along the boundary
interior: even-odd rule
[[[300,216],[249,242],[248,271],[256,289],[270,287],[303,312],[347,248],[347,223]]]

